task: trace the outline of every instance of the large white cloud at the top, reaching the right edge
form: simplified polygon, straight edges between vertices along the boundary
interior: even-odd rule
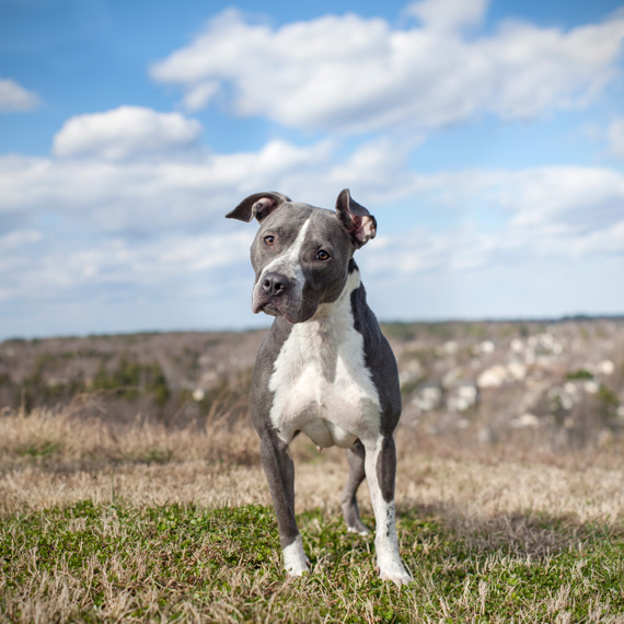
[[[240,116],[345,132],[582,107],[612,79],[621,13],[567,32],[506,22],[464,35],[484,11],[481,0],[425,0],[407,9],[423,25],[398,30],[353,13],[271,28],[230,9],[151,73],[180,84],[192,109],[220,97]]]

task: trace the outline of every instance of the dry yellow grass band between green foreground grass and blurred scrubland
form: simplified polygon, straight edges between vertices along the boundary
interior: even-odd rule
[[[583,522],[624,518],[623,462],[612,451],[566,457],[509,449],[453,449],[397,432],[400,510],[435,509],[453,524],[546,513]],[[298,510],[338,513],[344,451],[293,444]],[[0,513],[79,500],[131,506],[269,505],[257,439],[245,421],[215,416],[205,430],[142,423],[113,426],[70,409],[0,417]],[[609,461],[611,460],[611,466]],[[365,509],[366,487],[361,488]]]

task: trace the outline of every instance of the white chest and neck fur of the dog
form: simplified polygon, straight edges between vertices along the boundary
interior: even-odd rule
[[[379,395],[350,310],[358,286],[354,273],[336,302],[292,327],[275,361],[270,418],[287,443],[303,431],[320,447],[348,448],[379,432]]]

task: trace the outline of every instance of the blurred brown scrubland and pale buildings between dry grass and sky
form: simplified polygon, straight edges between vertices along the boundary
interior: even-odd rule
[[[389,323],[402,426],[461,444],[605,447],[624,432],[624,320]],[[0,343],[0,406],[171,427],[249,414],[264,331]]]

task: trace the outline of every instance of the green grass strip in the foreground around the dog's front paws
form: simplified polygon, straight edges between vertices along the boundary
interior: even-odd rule
[[[5,517],[0,620],[624,622],[624,530],[529,515],[512,539],[409,510],[398,534],[415,582],[398,589],[377,578],[372,536],[321,510],[299,522],[313,573],[288,580],[261,506],[83,501]]]

